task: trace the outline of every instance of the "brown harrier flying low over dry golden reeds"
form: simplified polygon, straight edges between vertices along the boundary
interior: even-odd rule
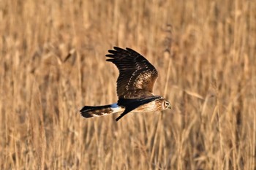
[[[154,112],[170,109],[170,102],[162,96],[154,96],[157,69],[135,50],[114,47],[108,50],[107,61],[114,63],[118,70],[116,92],[117,103],[104,106],[85,106],[80,110],[83,117],[99,117],[121,113],[116,121],[127,113]]]

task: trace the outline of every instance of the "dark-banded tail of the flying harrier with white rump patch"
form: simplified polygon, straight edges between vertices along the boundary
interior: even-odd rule
[[[82,109],[80,109],[80,114],[83,117],[89,118],[110,115],[122,111],[124,111],[124,108],[119,107],[118,104],[108,104],[97,107],[84,106]]]

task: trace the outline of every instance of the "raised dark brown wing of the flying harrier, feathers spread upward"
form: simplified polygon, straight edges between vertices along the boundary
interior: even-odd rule
[[[156,82],[157,69],[146,58],[135,50],[114,47],[108,50],[110,54],[107,61],[114,63],[118,70],[117,96],[118,98],[141,98],[151,96],[154,82]]]

